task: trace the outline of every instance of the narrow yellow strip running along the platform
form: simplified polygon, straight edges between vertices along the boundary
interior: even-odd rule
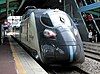
[[[18,74],[26,74],[26,71],[25,71],[22,63],[20,62],[20,59],[18,58],[17,53],[14,50],[15,48],[13,47],[11,42],[10,42],[10,46],[11,46],[11,50],[13,52],[13,57],[14,57],[14,60],[15,60],[17,73]]]

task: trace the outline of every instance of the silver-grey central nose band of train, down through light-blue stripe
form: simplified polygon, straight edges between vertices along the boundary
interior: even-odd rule
[[[78,46],[74,34],[68,28],[58,28],[59,35],[57,36],[57,45],[59,54],[63,53],[63,60],[73,62],[74,55]],[[61,58],[62,58],[61,57]]]

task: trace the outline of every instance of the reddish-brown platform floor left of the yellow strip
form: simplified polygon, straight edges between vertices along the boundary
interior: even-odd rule
[[[17,74],[8,38],[0,45],[0,74]]]

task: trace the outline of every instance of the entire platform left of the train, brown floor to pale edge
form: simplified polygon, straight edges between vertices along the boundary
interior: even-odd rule
[[[11,37],[0,45],[0,74],[48,74]]]

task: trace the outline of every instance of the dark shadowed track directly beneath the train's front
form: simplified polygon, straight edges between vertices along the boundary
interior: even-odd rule
[[[89,74],[77,66],[53,66],[48,68],[48,74]]]

